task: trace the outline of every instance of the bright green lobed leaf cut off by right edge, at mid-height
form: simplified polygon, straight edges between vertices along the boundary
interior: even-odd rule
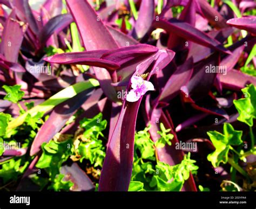
[[[256,87],[250,84],[243,88],[242,92],[245,98],[234,100],[235,108],[239,113],[238,120],[252,127],[253,119],[256,119]]]

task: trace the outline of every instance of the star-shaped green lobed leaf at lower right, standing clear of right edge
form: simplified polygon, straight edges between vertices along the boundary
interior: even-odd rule
[[[240,145],[242,143],[242,131],[236,131],[230,123],[224,123],[224,134],[218,131],[208,131],[207,135],[212,141],[215,151],[207,156],[208,161],[212,162],[214,168],[219,166],[221,162],[227,163],[228,151],[231,145]]]

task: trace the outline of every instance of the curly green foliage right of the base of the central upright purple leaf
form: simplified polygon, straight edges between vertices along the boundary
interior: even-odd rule
[[[174,166],[156,161],[155,148],[148,133],[149,129],[145,128],[135,134],[131,180],[143,183],[143,191],[180,191],[190,172],[198,169],[198,166],[194,165],[196,161],[190,159],[190,153],[180,164]],[[163,133],[170,131],[165,130],[163,126],[162,130],[164,130]]]

